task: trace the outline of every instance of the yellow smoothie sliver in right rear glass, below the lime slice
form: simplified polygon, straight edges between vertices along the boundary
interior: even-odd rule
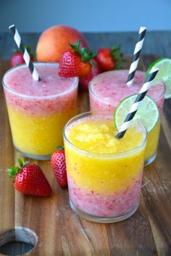
[[[154,128],[149,132],[146,143],[145,161],[154,156],[157,152],[157,145],[159,141],[159,131],[160,131],[160,119]]]

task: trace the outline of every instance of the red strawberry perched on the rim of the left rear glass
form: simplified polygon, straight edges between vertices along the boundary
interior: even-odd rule
[[[58,74],[63,78],[75,76],[83,78],[91,72],[90,60],[95,57],[95,54],[85,47],[80,49],[80,40],[76,44],[70,44],[70,47],[64,51],[59,60]]]

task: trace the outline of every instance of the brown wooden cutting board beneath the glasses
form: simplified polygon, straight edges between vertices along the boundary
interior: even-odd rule
[[[130,64],[127,59],[125,67]],[[152,55],[141,57],[139,69],[146,70],[154,59],[157,57]],[[9,62],[1,60],[0,76],[8,68]],[[75,215],[68,191],[57,185],[49,161],[33,162],[41,166],[51,183],[50,198],[28,197],[14,191],[5,170],[19,155],[12,146],[2,88],[0,100],[0,232],[14,226],[35,231],[38,243],[25,255],[171,255],[171,100],[164,104],[157,160],[144,170],[140,207],[128,220],[112,224],[91,223]],[[89,110],[86,91],[79,91],[78,106],[80,112]]]

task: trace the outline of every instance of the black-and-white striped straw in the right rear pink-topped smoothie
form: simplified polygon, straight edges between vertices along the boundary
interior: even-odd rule
[[[143,47],[143,41],[144,41],[145,36],[146,36],[146,28],[140,27],[138,42],[135,44],[135,49],[133,52],[133,62],[130,65],[130,70],[129,70],[129,74],[128,74],[128,80],[127,80],[128,86],[133,84],[134,75],[135,75],[135,71],[137,70],[137,67],[138,67],[139,57],[141,54],[141,49]]]

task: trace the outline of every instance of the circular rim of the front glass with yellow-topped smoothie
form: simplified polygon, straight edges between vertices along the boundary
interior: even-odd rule
[[[80,149],[78,146],[75,146],[74,144],[72,144],[72,142],[70,142],[70,140],[68,139],[68,136],[67,136],[67,128],[69,125],[71,125],[72,123],[74,123],[76,120],[79,120],[81,119],[80,117],[90,117],[91,115],[99,115],[99,113],[103,114],[104,117],[107,117],[106,115],[104,115],[105,113],[108,115],[108,117],[112,117],[113,116],[111,115],[111,112],[109,111],[105,111],[105,110],[100,110],[100,111],[88,111],[88,112],[83,112],[83,113],[80,113],[79,115],[76,115],[75,117],[72,117],[65,125],[64,125],[64,128],[63,128],[63,136],[64,136],[64,139],[67,141],[67,144],[69,144],[70,146],[72,146],[72,148],[76,149],[76,150],[79,150],[79,152],[81,154],[86,154],[88,155],[88,157],[100,157],[100,158],[119,158],[119,157],[122,157],[124,155],[128,155],[128,154],[133,154],[133,152],[136,152],[138,151],[139,149],[143,148],[143,146],[146,146],[146,140],[147,140],[147,136],[148,136],[148,132],[146,130],[146,126],[143,125],[143,123],[141,123],[141,121],[139,120],[136,120],[136,123],[138,124],[141,124],[141,127],[143,128],[143,131],[145,132],[145,135],[144,135],[144,138],[143,138],[143,141],[141,142],[141,144],[139,144],[138,146],[135,146],[133,149],[129,149],[129,150],[125,150],[123,152],[117,152],[117,153],[108,153],[108,154],[105,154],[105,153],[95,153],[95,152],[89,152],[89,151],[86,151],[84,149]],[[100,115],[99,115],[100,116]]]

